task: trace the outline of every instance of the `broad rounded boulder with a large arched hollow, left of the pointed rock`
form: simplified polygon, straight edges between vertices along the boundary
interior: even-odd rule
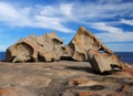
[[[45,33],[41,36],[30,35],[21,39],[7,50],[6,61],[58,61],[63,54],[62,43],[63,41],[55,33]]]

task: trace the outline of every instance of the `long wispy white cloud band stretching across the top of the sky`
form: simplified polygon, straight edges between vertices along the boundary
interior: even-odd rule
[[[8,2],[0,2],[0,21],[10,25],[18,26],[35,26],[42,28],[42,21],[49,18],[50,21],[47,23],[49,25],[43,25],[43,28],[53,26],[53,30],[69,32],[72,31],[65,26],[70,22],[83,23],[86,20],[96,21],[101,19],[109,19],[114,17],[133,15],[132,2],[121,2],[119,1],[105,1],[100,0],[98,2],[72,2],[72,3],[60,3],[55,6],[32,6],[32,7],[17,7]],[[42,21],[35,20],[35,17],[41,18]],[[55,19],[55,20],[53,20]],[[58,19],[58,21],[57,21]],[[57,22],[60,25],[53,24]],[[51,24],[51,25],[50,25]],[[41,26],[39,26],[41,25]],[[59,26],[59,28],[58,28]],[[60,30],[63,29],[63,30]]]

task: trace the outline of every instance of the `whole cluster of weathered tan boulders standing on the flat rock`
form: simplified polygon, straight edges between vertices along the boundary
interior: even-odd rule
[[[80,26],[71,42],[64,46],[55,33],[21,39],[7,50],[8,62],[52,62],[61,58],[88,61],[95,72],[122,67],[120,58],[92,33]],[[101,53],[102,51],[102,53]]]

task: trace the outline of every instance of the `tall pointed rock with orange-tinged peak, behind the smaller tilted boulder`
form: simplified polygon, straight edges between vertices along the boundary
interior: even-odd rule
[[[104,51],[109,54],[114,54],[92,33],[80,26],[78,33],[66,46],[68,54],[75,61],[88,61],[88,51]]]

